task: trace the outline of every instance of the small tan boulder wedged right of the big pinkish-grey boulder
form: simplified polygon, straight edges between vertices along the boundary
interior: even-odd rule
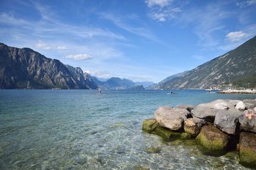
[[[192,136],[197,136],[205,124],[207,122],[201,118],[188,118],[184,123],[184,131]]]

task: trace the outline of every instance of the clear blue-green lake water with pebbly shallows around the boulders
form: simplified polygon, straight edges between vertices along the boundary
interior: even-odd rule
[[[0,169],[246,169],[236,152],[211,157],[196,145],[141,131],[159,106],[256,95],[203,90],[0,90]],[[160,153],[147,153],[148,147]]]

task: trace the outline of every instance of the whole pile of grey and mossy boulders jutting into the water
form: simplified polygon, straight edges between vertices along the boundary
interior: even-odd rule
[[[256,99],[163,106],[143,120],[142,129],[164,140],[195,139],[208,155],[237,150],[241,164],[256,167]]]

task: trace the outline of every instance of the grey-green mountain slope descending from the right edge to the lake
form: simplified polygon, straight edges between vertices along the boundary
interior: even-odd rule
[[[230,52],[163,83],[163,89],[207,89],[256,76],[256,36]],[[247,87],[247,86],[246,86]]]

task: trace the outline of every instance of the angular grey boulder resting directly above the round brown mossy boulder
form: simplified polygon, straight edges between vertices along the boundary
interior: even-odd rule
[[[243,112],[237,110],[218,112],[214,120],[214,125],[223,132],[236,134],[239,131],[238,117],[240,115],[243,115]]]

